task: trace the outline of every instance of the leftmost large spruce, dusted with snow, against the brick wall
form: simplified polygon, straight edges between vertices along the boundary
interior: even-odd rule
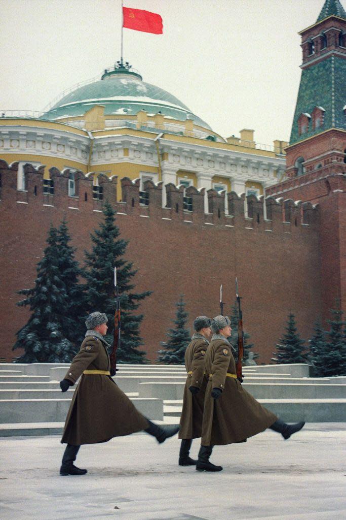
[[[74,326],[66,315],[69,306],[65,283],[61,277],[61,251],[58,230],[50,226],[44,257],[37,264],[35,287],[18,294],[26,297],[19,307],[29,306],[31,316],[17,332],[12,350],[23,348],[17,358],[20,363],[70,362],[75,354],[73,344],[66,339],[63,329]]]

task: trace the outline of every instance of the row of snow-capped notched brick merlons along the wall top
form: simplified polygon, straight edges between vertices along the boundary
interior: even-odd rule
[[[108,177],[105,174],[98,175],[98,186],[102,188],[102,197],[95,197],[93,191],[93,172],[87,175],[81,171],[73,171],[75,180],[75,194],[68,193],[68,183],[71,170],[64,168],[60,171],[56,167],[49,168],[49,179],[53,181],[52,193],[44,192],[45,166],[32,166],[30,163],[23,168],[25,175],[25,190],[17,190],[18,162],[8,165],[0,161],[0,173],[2,174],[2,200],[12,199],[19,204],[43,204],[45,207],[57,207],[66,212],[81,210],[83,212],[101,212],[105,200],[108,200],[117,212],[132,216],[151,217],[158,220],[171,220],[175,223],[194,225],[214,225],[224,227],[243,227],[258,231],[287,232],[289,222],[299,227],[303,214],[301,202],[293,199],[275,199],[268,196],[256,197],[254,194],[245,196],[234,191],[217,192],[214,189],[207,190],[209,212],[204,213],[205,188],[197,189],[194,186],[185,188],[175,186],[173,183],[163,185],[162,181],[154,184],[146,180],[143,190],[148,194],[147,202],[143,202],[143,193],[140,193],[140,179],[123,177],[120,180],[122,202],[117,202],[118,177]],[[46,185],[47,186],[47,185]],[[340,179],[336,176],[331,179],[332,188],[338,189]],[[162,207],[162,190],[167,193],[167,205]],[[184,196],[192,200],[192,211],[184,209]],[[142,199],[141,199],[142,197]],[[225,210],[225,198],[227,197],[228,212]],[[141,199],[141,202],[140,202]],[[246,204],[245,204],[246,200]],[[264,218],[264,204],[266,204],[266,219]],[[247,212],[245,213],[245,206]],[[313,209],[309,210],[316,212]],[[306,216],[306,218],[308,218]],[[313,217],[309,216],[309,222]],[[303,222],[307,223],[307,222]]]

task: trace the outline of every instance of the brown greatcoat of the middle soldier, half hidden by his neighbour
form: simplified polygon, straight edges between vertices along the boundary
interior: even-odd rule
[[[192,336],[192,341],[185,352],[187,379],[184,388],[179,439],[196,439],[202,434],[204,394],[207,385],[204,375],[204,356],[207,346],[206,340],[193,339]],[[197,386],[200,391],[198,394],[192,395],[189,386]]]

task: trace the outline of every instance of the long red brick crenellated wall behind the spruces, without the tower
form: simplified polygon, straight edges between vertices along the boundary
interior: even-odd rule
[[[92,180],[76,177],[76,197],[68,197],[68,171],[51,168],[54,194],[43,194],[43,167],[24,167],[26,191],[17,191],[18,163],[10,167],[0,161],[1,202],[1,292],[2,342],[0,357],[10,360],[16,331],[29,312],[18,308],[16,291],[33,287],[36,264],[46,246],[47,229],[57,226],[63,216],[83,261],[91,249],[90,232],[102,220],[101,201],[94,200]],[[146,181],[149,205],[139,203],[139,181],[121,179],[122,202],[116,202],[116,177],[99,176],[104,197],[118,212],[116,223],[121,236],[129,240],[126,258],[138,269],[137,291],[153,290],[139,309],[144,314],[141,327],[144,349],[155,361],[159,342],[172,326],[175,303],[185,294],[189,326],[195,316],[219,314],[219,287],[223,284],[225,313],[234,302],[234,278],[243,297],[244,329],[251,334],[258,362],[270,360],[274,344],[282,335],[287,314],[296,314],[305,339],[313,323],[322,315],[319,245],[319,206],[309,202],[247,197],[227,194],[229,214],[224,210],[224,194],[207,193],[209,213],[204,213],[204,190],[186,190],[193,211],[183,210],[183,188],[154,185]],[[162,189],[167,190],[170,207],[161,207]],[[112,273],[109,274],[112,276]],[[99,309],[102,311],[102,309]]]

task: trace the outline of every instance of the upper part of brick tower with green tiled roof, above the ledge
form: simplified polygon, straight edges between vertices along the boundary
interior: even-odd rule
[[[339,173],[346,153],[346,13],[339,0],[326,0],[316,23],[299,34],[302,73],[286,173]]]

